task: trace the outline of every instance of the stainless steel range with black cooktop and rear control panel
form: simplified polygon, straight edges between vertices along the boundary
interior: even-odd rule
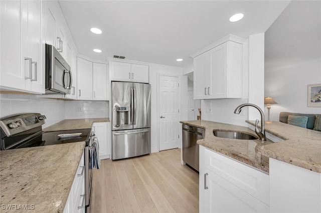
[[[64,131],[43,132],[42,125],[46,116],[39,113],[25,113],[12,115],[0,120],[1,143],[0,149],[17,149],[34,146],[47,146],[86,141],[85,146],[85,200],[86,212],[90,211],[90,197],[92,192],[91,149],[96,145],[95,134],[91,129],[74,129]],[[79,134],[81,133],[81,134]],[[60,134],[73,134],[61,139]]]

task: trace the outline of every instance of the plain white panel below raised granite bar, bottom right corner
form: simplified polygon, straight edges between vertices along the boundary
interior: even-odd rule
[[[321,173],[270,158],[270,212],[321,212]]]

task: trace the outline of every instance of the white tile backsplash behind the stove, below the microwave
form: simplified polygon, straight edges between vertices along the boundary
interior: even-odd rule
[[[38,95],[0,94],[0,118],[28,112],[46,115],[44,127],[64,119],[108,117],[108,101],[65,101]]]

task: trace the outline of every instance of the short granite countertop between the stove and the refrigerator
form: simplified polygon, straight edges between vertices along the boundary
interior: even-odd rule
[[[110,122],[109,118],[66,119],[43,129],[45,132],[72,129],[91,129],[94,122]]]

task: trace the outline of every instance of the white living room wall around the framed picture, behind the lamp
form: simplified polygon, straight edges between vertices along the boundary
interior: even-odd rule
[[[321,113],[320,107],[307,107],[307,85],[321,83],[321,59],[266,70],[264,78],[265,96],[278,103],[271,105],[270,120],[278,121],[284,111]]]

